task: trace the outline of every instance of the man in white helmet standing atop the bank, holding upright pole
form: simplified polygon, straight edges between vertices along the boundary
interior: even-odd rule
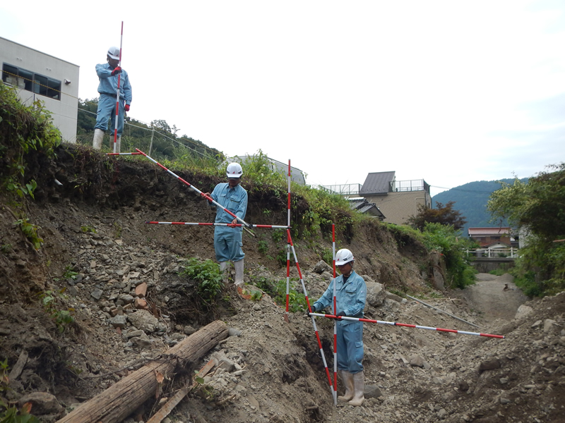
[[[131,85],[128,73],[119,67],[119,48],[110,47],[106,55],[107,63],[96,65],[96,74],[100,80],[98,92],[98,110],[94,126],[93,148],[101,149],[104,133],[108,129],[108,119],[112,131],[116,128],[116,99],[119,80],[118,135],[116,152],[120,152],[121,132],[124,130],[124,111],[129,111],[131,104]],[[124,104],[125,103],[125,104]]]

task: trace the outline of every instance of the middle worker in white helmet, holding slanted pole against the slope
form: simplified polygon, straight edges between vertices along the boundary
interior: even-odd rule
[[[244,220],[247,212],[247,191],[239,185],[243,175],[242,166],[239,163],[230,163],[227,166],[227,183],[219,183],[215,186],[212,194],[204,193],[212,197],[222,207],[230,210],[239,219]],[[212,204],[212,202],[208,202]],[[218,208],[215,223],[238,223],[231,214]],[[245,254],[242,250],[242,226],[215,226],[214,227],[214,250],[216,259],[220,262],[220,270],[226,272],[229,262],[235,267],[235,286],[242,293],[243,269]]]

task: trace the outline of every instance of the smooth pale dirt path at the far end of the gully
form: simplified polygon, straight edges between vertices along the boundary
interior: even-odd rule
[[[477,274],[477,283],[465,288],[463,296],[487,322],[513,319],[518,307],[528,301],[528,297],[514,285],[510,274]]]

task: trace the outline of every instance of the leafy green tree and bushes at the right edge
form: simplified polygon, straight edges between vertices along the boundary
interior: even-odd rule
[[[528,183],[501,183],[487,209],[493,219],[520,228],[525,247],[511,274],[526,295],[554,295],[565,290],[565,163],[547,166]]]

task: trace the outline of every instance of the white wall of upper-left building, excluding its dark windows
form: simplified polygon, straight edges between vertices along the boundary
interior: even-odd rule
[[[61,81],[60,100],[20,89],[18,95],[24,104],[32,104],[36,99],[44,102],[45,109],[52,114],[53,123],[61,131],[63,140],[76,142],[79,67],[0,37],[0,64],[4,63]],[[71,82],[66,84],[65,80]]]

